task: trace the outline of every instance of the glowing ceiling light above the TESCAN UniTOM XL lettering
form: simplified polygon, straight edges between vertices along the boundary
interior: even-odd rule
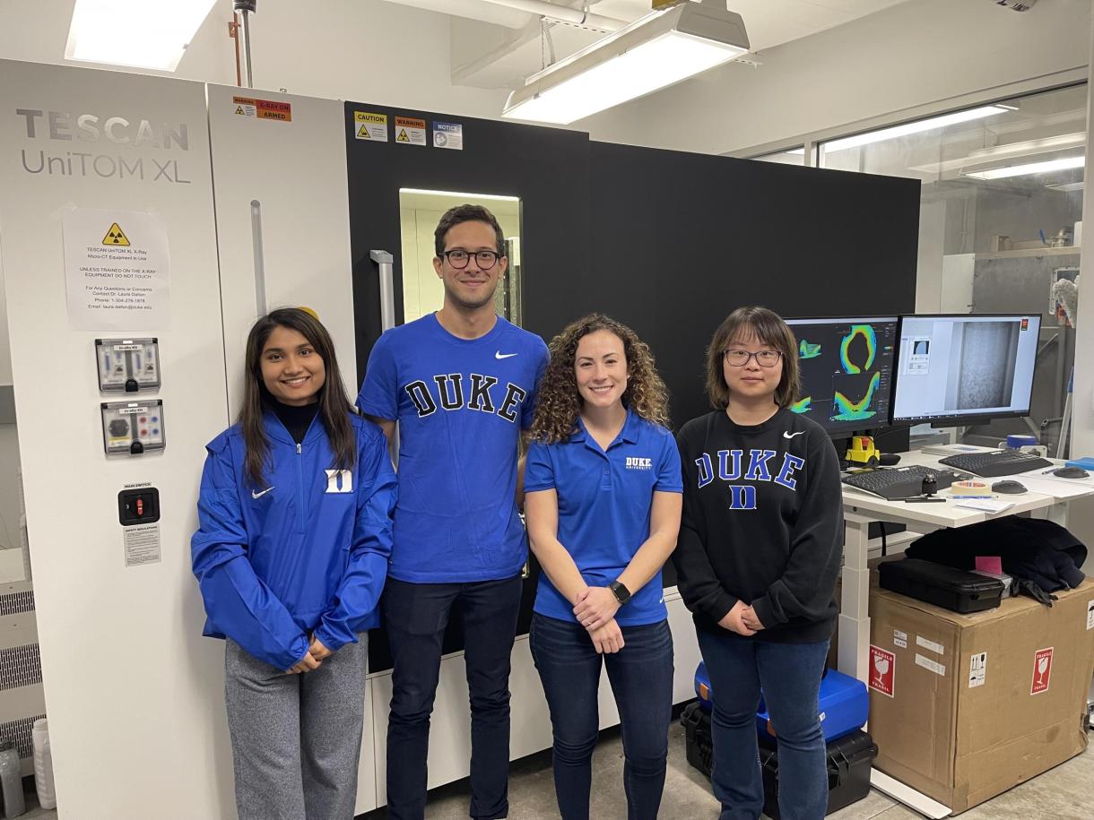
[[[174,71],[216,0],[75,0],[65,59]]]

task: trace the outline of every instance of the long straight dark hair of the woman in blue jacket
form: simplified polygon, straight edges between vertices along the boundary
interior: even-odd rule
[[[263,402],[275,401],[263,383],[263,348],[266,347],[274,328],[284,327],[298,331],[323,360],[326,378],[319,388],[319,419],[327,430],[330,449],[335,454],[331,469],[352,469],[357,461],[357,440],[347,413],[350,405],[346,386],[338,371],[335,344],[323,324],[299,307],[281,307],[259,317],[247,336],[246,373],[243,386],[243,407],[240,409],[240,427],[247,447],[247,478],[256,485],[263,484],[264,472],[269,461],[270,445],[263,424]]]

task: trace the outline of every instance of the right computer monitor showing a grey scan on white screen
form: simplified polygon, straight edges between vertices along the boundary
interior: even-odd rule
[[[893,421],[1029,414],[1040,314],[901,316]]]

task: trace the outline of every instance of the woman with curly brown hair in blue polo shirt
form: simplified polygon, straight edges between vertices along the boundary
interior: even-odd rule
[[[589,817],[602,657],[619,707],[628,817],[655,818],[665,783],[673,642],[661,566],[680,524],[668,396],[635,331],[600,314],[550,343],[524,479],[543,566],[532,655],[555,737],[563,820]]]

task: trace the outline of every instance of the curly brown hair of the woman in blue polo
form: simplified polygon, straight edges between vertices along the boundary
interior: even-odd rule
[[[622,394],[624,407],[654,424],[668,426],[668,389],[657,375],[650,345],[638,333],[620,321],[600,313],[582,316],[567,325],[562,332],[550,340],[550,362],[539,383],[536,401],[536,420],[532,437],[548,444],[560,442],[573,434],[581,413],[581,396],[573,362],[578,342],[596,330],[608,330],[622,342],[627,359],[627,389]]]

